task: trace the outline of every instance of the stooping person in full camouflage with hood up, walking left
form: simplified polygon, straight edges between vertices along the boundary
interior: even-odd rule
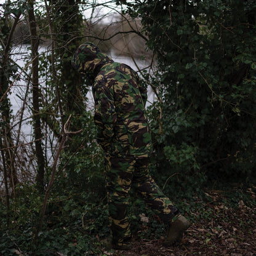
[[[105,151],[113,248],[130,248],[132,234],[127,205],[131,186],[169,226],[165,244],[174,244],[190,223],[162,193],[148,172],[152,142],[145,114],[146,88],[132,68],[113,62],[91,42],[79,46],[71,63],[75,70],[92,81],[97,141]]]

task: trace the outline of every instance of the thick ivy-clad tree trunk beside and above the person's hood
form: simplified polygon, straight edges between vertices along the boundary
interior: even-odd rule
[[[79,12],[77,0],[62,0],[52,4],[54,12],[54,31],[58,31],[56,56],[59,71],[58,81],[55,86],[60,89],[63,110],[66,116],[69,113],[82,114],[84,111],[83,100],[88,88],[84,86],[81,75],[71,66],[71,57],[81,44],[82,14]],[[63,43],[66,46],[63,47]]]

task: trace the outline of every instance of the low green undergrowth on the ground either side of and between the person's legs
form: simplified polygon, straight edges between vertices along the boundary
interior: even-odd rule
[[[169,196],[172,193],[171,187],[168,188],[164,191]],[[175,206],[191,222],[200,222],[214,218],[215,213],[209,204],[236,208],[242,201],[255,205],[250,197],[254,190],[254,186],[236,183],[215,188],[209,186],[186,197],[184,193],[176,193],[173,198]],[[102,255],[99,248],[110,236],[106,198],[88,192],[52,194],[39,230],[42,199],[36,190],[22,188],[16,196],[10,202],[9,212],[4,204],[0,205],[1,256]],[[135,193],[131,193],[129,218],[132,231],[140,239],[158,239],[165,234],[164,223],[141,199],[136,198]]]

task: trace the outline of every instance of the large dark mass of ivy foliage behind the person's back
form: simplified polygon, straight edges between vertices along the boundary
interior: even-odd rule
[[[171,159],[180,174],[255,178],[255,1],[119,2],[142,19],[158,58],[150,81],[161,98],[150,108],[155,161]]]

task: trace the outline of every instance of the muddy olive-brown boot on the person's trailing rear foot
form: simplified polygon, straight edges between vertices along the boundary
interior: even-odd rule
[[[172,246],[172,244],[179,241],[189,226],[190,222],[184,216],[180,215],[177,220],[170,225],[164,246]]]

